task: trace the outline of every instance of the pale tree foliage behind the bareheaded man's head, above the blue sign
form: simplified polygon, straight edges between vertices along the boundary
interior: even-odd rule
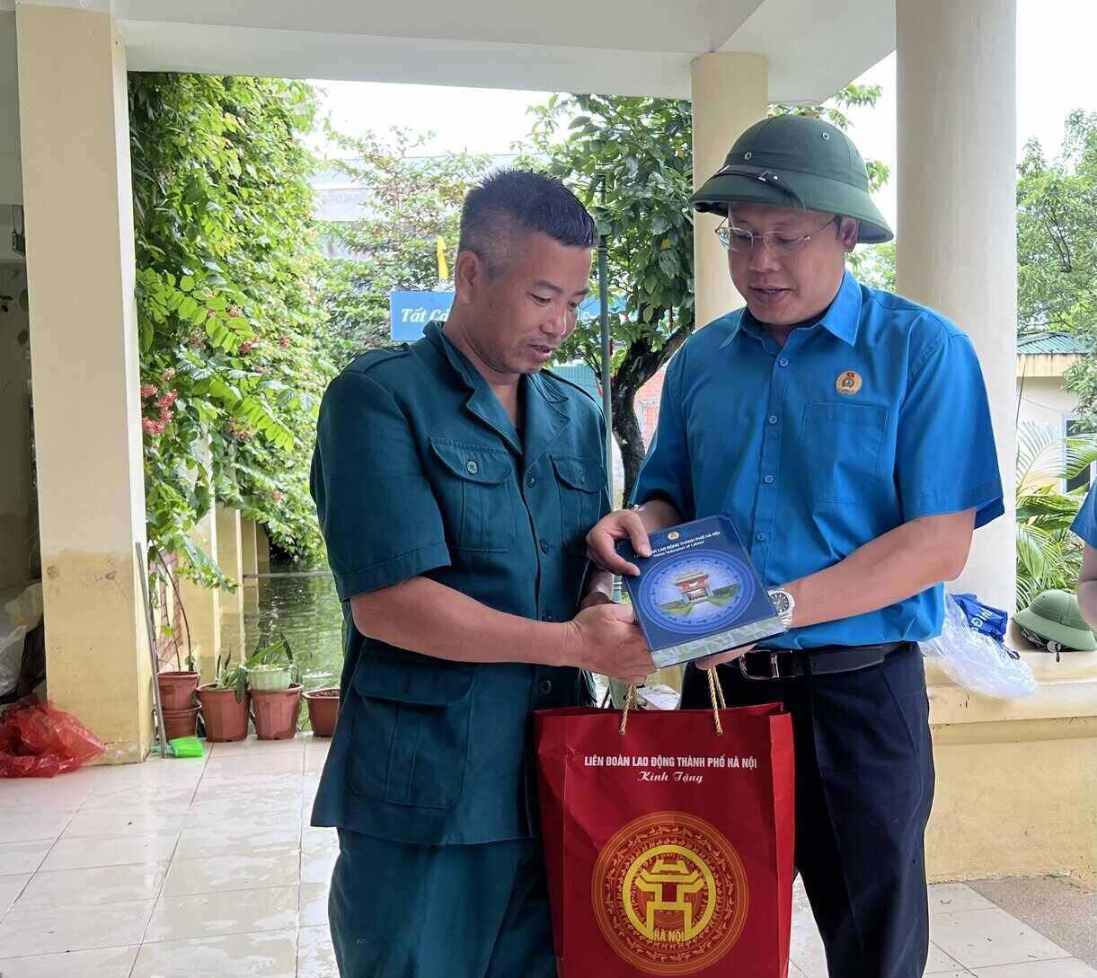
[[[321,296],[333,353],[346,361],[392,342],[391,292],[440,286],[438,237],[452,266],[462,202],[490,159],[455,152],[416,156],[432,133],[393,128],[387,139],[373,133],[329,136],[341,153],[332,164],[369,191],[360,219],[324,227],[336,250],[349,255],[328,261]]]

